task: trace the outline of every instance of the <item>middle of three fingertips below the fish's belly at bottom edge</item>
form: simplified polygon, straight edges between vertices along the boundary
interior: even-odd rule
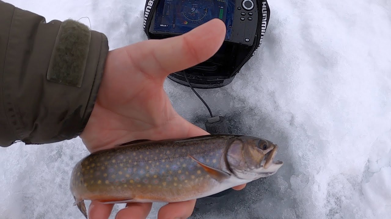
[[[152,203],[128,203],[118,211],[115,219],[145,219],[151,211]]]

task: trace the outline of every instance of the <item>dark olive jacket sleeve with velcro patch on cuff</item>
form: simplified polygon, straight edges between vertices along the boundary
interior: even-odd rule
[[[93,109],[108,40],[0,0],[0,146],[77,137]]]

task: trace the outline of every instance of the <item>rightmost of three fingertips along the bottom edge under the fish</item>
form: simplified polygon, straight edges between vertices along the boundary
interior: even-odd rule
[[[168,203],[160,208],[158,219],[186,219],[192,215],[195,201],[197,200]]]

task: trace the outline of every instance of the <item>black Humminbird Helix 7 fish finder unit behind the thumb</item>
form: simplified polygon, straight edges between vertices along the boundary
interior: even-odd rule
[[[269,16],[267,0],[147,0],[143,27],[148,39],[164,39],[185,34],[213,18],[224,21],[225,40],[213,57],[169,75],[181,85],[209,89],[231,83],[255,55]]]

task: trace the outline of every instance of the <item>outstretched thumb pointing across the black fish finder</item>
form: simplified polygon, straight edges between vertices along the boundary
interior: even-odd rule
[[[187,69],[212,57],[221,47],[225,33],[224,23],[220,19],[212,19],[186,34],[142,41],[124,49],[140,71],[164,80],[172,72]]]

